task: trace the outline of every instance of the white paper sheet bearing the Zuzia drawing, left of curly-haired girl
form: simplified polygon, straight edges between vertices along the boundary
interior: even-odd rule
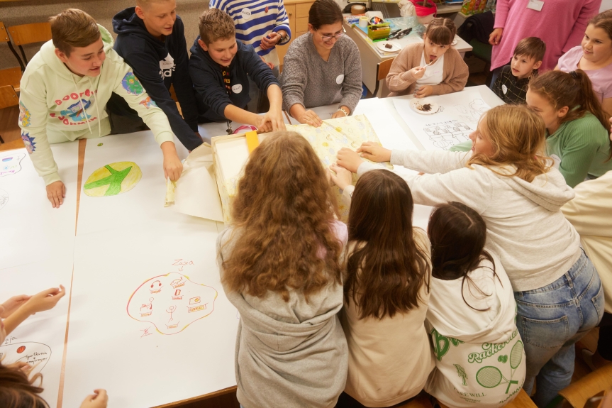
[[[182,224],[153,221],[146,228],[77,236],[64,407],[78,407],[97,387],[108,390],[113,407],[152,407],[235,385],[239,316],[216,267],[223,224],[184,217],[188,221]],[[216,299],[210,289],[196,296],[187,292],[176,299],[178,306],[213,311],[187,321],[187,327],[184,322],[172,327],[171,317],[189,313],[171,316],[167,302],[174,300],[168,298],[184,296],[177,290],[194,286],[187,280],[212,287]],[[143,290],[153,300],[146,292],[143,297]],[[130,304],[133,294],[141,303],[137,311]],[[202,304],[206,308],[197,309]]]

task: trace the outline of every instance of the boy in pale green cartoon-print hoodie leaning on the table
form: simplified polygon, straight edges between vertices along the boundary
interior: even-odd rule
[[[34,55],[21,79],[19,127],[52,206],[63,203],[66,187],[50,143],[111,133],[104,107],[112,92],[126,99],[152,130],[164,154],[165,175],[177,180],[182,164],[168,119],[113,50],[109,31],[77,9],[62,11],[50,23],[52,40]]]

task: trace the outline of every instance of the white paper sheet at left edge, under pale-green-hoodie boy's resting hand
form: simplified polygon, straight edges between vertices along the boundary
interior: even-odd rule
[[[66,186],[64,204],[59,209],[52,208],[47,199],[45,182],[26,149],[0,152],[0,166],[11,167],[0,177],[0,269],[58,255],[72,258],[79,143],[60,143],[51,149]]]

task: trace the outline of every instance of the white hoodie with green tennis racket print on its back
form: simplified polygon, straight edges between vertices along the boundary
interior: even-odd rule
[[[448,407],[503,407],[525,382],[514,293],[499,259],[492,256],[496,277],[493,265],[483,260],[463,285],[462,278],[431,279],[426,324],[435,370],[425,391]]]

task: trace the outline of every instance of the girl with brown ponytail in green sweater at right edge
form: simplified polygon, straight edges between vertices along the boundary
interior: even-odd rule
[[[608,116],[582,70],[531,79],[527,104],[546,124],[546,153],[569,187],[612,170]]]

